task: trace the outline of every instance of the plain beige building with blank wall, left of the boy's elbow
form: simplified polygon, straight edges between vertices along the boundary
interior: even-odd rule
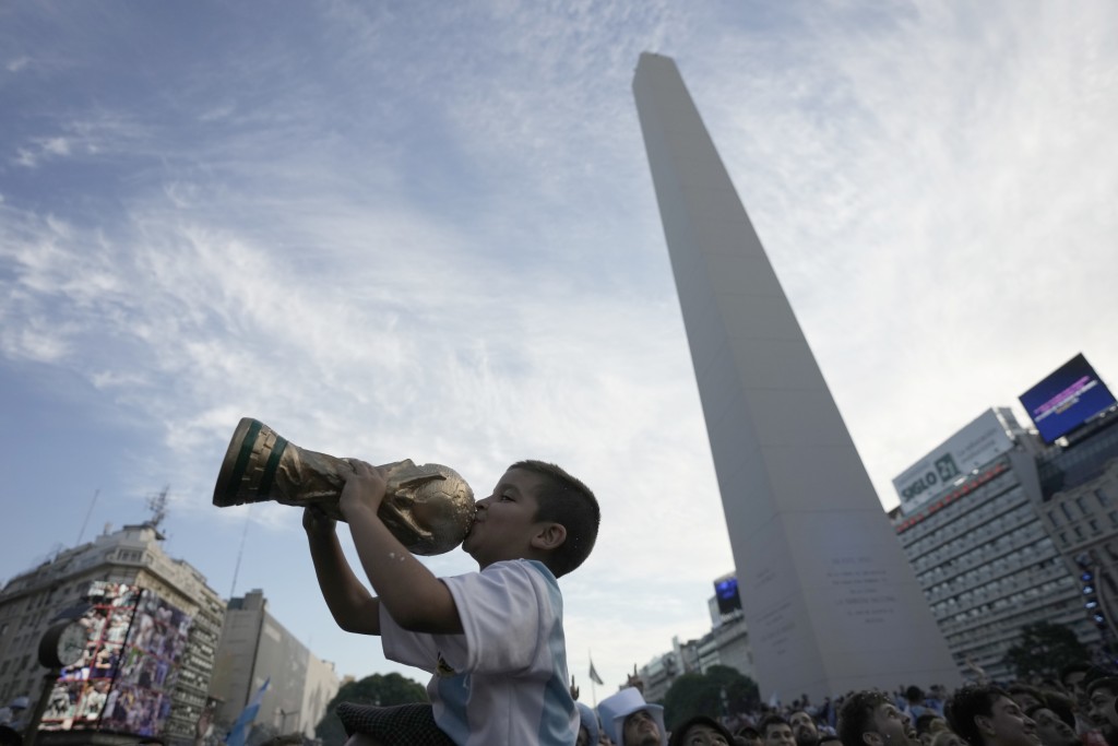
[[[341,687],[333,663],[320,661],[285,630],[268,612],[264,592],[254,589],[226,608],[209,689],[218,700],[217,727],[228,729],[265,681],[257,725],[309,738]]]

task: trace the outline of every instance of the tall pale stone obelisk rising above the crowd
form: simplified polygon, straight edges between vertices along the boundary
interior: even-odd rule
[[[641,55],[633,92],[762,697],[955,684],[947,645],[675,64]]]

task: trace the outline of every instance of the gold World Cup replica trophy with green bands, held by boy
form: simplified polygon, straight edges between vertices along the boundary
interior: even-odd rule
[[[417,466],[410,459],[379,468],[388,482],[377,514],[408,551],[440,555],[462,544],[474,520],[474,493],[456,471]],[[351,459],[288,443],[258,419],[245,417],[229,441],[214,488],[219,508],[275,500],[318,507],[344,521],[338,499],[353,473]]]

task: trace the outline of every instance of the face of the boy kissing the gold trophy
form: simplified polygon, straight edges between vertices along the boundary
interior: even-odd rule
[[[536,520],[536,491],[543,478],[522,469],[510,469],[493,489],[477,501],[477,516],[462,548],[484,569],[504,559],[522,559],[533,554],[532,538],[547,525]]]

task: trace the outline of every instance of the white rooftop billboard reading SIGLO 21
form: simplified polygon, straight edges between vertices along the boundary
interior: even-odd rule
[[[1013,448],[1006,424],[987,409],[893,480],[901,512],[912,513],[955,485],[956,480]]]

